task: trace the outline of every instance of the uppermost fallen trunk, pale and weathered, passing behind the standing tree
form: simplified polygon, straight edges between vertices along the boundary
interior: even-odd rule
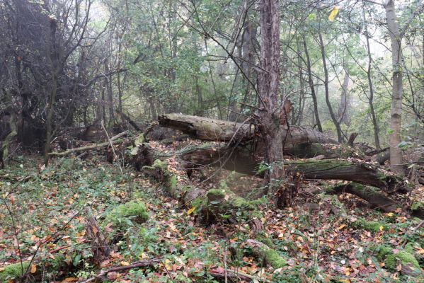
[[[158,117],[161,127],[178,129],[195,139],[205,141],[248,141],[255,137],[255,127],[250,123],[237,123],[224,120],[214,120],[205,117],[171,113]],[[338,144],[334,139],[323,133],[303,127],[282,127],[282,139],[285,148],[297,144]]]

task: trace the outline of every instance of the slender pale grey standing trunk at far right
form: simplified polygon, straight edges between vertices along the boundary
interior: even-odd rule
[[[401,142],[401,117],[402,117],[402,67],[401,67],[401,32],[396,23],[396,9],[394,0],[386,1],[387,28],[391,40],[391,64],[393,67],[393,92],[391,94],[391,116],[390,116],[390,166],[395,173],[403,174],[402,151],[399,149]]]

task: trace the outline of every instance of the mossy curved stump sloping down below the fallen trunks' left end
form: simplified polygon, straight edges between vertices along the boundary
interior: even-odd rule
[[[143,166],[143,171],[159,180],[168,195],[173,198],[179,197],[176,175],[168,171],[168,163],[156,159],[151,166]]]

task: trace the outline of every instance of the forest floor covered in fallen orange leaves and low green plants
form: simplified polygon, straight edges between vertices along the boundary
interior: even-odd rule
[[[172,149],[157,142],[151,146]],[[388,268],[389,262],[376,253],[380,246],[402,253],[407,243],[409,254],[416,255],[422,269],[424,231],[415,229],[420,219],[400,210],[369,209],[348,194],[307,193],[325,183],[305,181],[292,208],[275,209],[269,197],[260,202],[265,235],[287,261],[284,267],[273,269],[246,246],[251,238],[246,221],[205,226],[193,208],[164,195],[156,180],[130,167],[112,165],[102,154],[82,161],[57,158],[47,167],[41,164],[38,157],[21,156],[0,171],[1,282],[14,282],[4,276],[13,264],[15,276],[23,270],[28,282],[94,282],[101,268],[153,258],[159,263],[109,272],[103,282],[236,282],[212,276],[226,271],[250,277],[251,282],[424,282],[423,270],[418,270],[420,275],[405,275],[401,262]],[[262,185],[258,178],[214,170],[205,171],[209,178],[196,173],[188,180],[172,158],[168,169],[178,182],[226,187],[242,197],[255,195],[252,192]],[[423,195],[421,186],[412,197],[423,200]],[[149,214],[145,223],[113,219],[113,209],[133,200],[144,202]],[[110,257],[100,267],[93,264],[86,235],[86,207],[113,243]],[[110,217],[125,229],[116,230]],[[367,225],[352,225],[357,219]]]

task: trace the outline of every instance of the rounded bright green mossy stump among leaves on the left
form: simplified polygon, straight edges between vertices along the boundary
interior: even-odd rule
[[[142,224],[149,219],[149,213],[143,202],[132,200],[120,204],[106,216],[104,226],[112,224],[115,233],[125,233],[135,224]],[[115,235],[113,235],[115,236]]]

